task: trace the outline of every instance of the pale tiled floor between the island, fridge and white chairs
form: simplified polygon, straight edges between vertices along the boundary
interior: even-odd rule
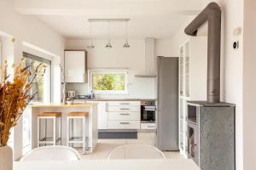
[[[138,139],[100,139],[93,153],[82,155],[82,161],[107,159],[108,153],[123,144],[155,144],[155,133],[138,133]],[[79,149],[79,153],[82,150]],[[164,152],[167,159],[184,159],[177,151]]]

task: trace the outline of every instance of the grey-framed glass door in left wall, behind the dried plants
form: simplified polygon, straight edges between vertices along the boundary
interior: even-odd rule
[[[33,54],[23,53],[23,66],[30,66],[30,72],[36,71],[38,65],[43,65],[38,71],[38,77],[32,83],[30,94],[35,94],[31,103],[49,103],[51,101],[51,61]],[[44,75],[44,76],[42,76]],[[30,77],[32,78],[32,77]],[[23,113],[22,124],[22,151],[25,155],[32,150],[32,109],[27,107]]]

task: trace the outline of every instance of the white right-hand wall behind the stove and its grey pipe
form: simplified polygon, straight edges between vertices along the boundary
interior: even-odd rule
[[[204,6],[212,0],[204,0]],[[217,0],[222,9],[222,52],[221,52],[221,99],[225,102],[236,104],[236,169],[243,168],[243,140],[242,140],[242,38],[233,37],[233,30],[236,27],[243,26],[243,1],[242,0]],[[187,38],[184,34],[185,26],[188,26],[188,20],[182,26],[174,37],[172,37],[172,48],[174,55],[178,54],[178,46]],[[204,29],[206,26],[204,26]],[[203,31],[205,32],[205,30]],[[232,42],[240,41],[240,48],[233,50]],[[207,57],[207,56],[206,56]],[[200,89],[199,89],[200,90]]]

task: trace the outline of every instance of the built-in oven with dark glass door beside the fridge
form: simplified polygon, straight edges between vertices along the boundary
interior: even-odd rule
[[[156,106],[153,100],[141,101],[141,122],[154,123],[155,122]]]

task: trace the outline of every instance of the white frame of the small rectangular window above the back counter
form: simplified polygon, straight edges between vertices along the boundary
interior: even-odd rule
[[[93,90],[92,89],[92,76],[94,73],[102,74],[124,74],[125,75],[125,90]],[[90,94],[93,90],[94,94],[129,94],[128,93],[128,70],[124,69],[92,69],[88,71],[89,74],[89,88],[88,93]]]

